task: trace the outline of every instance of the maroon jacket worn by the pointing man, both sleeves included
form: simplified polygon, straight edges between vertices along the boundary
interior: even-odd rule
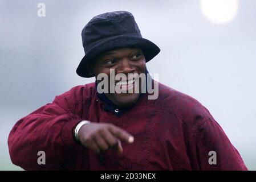
[[[66,170],[247,170],[241,156],[209,111],[192,97],[159,83],[159,98],[144,94],[121,115],[105,110],[95,83],[76,86],[20,119],[10,132],[11,160],[24,169]],[[106,122],[135,137],[123,155],[97,155],[76,143],[82,120]],[[46,154],[39,165],[38,151]],[[217,164],[209,164],[210,151]]]

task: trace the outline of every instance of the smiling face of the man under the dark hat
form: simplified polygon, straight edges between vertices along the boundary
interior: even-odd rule
[[[111,51],[104,52],[100,56],[96,57],[94,67],[92,68],[95,76],[99,73],[105,73],[108,75],[110,82],[110,69],[115,69],[115,76],[118,73],[124,73],[127,76],[127,80],[115,80],[115,84],[119,81],[128,82],[128,73],[145,73],[146,61],[145,56],[140,48],[119,48]],[[100,81],[97,81],[100,82]],[[119,82],[120,83],[120,82]],[[118,84],[117,84],[118,85]],[[134,89],[134,85],[129,86],[127,89]],[[109,84],[109,86],[113,86]],[[141,84],[140,84],[141,88]],[[126,89],[126,87],[125,87]],[[117,106],[131,106],[134,104],[140,93],[105,93],[105,95]]]

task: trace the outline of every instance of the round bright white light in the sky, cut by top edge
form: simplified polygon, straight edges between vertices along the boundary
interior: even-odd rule
[[[238,11],[237,0],[201,0],[200,6],[202,14],[218,24],[231,22]]]

